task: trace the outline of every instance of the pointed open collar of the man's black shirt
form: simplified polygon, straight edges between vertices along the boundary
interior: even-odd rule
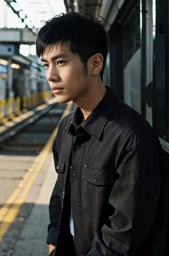
[[[117,95],[112,91],[112,89],[108,86],[106,86],[106,89],[106,95],[91,112],[88,118],[82,123],[82,111],[80,108],[76,108],[72,120],[67,124],[65,131],[68,130],[68,133],[74,133],[76,128],[81,125],[86,132],[96,137],[98,140],[100,139],[102,131],[112,114],[114,107],[118,103]]]

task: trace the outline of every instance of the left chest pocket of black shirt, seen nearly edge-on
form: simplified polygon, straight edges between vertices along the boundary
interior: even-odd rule
[[[62,193],[64,190],[64,184],[65,184],[65,171],[66,171],[66,164],[59,158],[58,166],[56,169],[56,172],[58,174],[57,184],[58,184],[58,190]]]

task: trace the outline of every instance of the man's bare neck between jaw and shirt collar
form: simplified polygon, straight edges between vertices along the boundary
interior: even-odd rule
[[[96,86],[91,86],[87,93],[74,103],[82,110],[84,120],[91,114],[107,92],[106,87],[100,81]]]

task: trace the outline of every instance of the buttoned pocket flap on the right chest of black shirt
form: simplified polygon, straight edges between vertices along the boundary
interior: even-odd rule
[[[88,166],[84,169],[83,179],[94,185],[103,186],[112,183],[111,176],[108,170]]]

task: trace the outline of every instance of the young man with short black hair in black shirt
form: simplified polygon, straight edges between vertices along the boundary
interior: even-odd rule
[[[36,47],[58,102],[77,106],[53,143],[50,253],[165,255],[162,149],[149,123],[101,80],[108,53],[101,23],[78,13],[55,16]]]

